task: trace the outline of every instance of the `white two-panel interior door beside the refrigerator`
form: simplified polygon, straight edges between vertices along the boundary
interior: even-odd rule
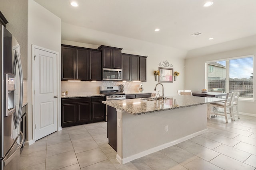
[[[57,54],[34,49],[35,140],[57,131]]]

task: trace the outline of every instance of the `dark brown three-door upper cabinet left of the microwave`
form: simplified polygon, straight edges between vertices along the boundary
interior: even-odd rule
[[[101,81],[101,51],[62,45],[61,80]]]

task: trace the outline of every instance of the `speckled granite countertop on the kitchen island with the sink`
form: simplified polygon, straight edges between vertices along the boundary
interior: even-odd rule
[[[146,99],[146,98],[144,98]],[[197,106],[217,101],[220,98],[204,98],[196,96],[168,96],[167,100],[147,101],[143,99],[110,100],[102,103],[133,115]]]

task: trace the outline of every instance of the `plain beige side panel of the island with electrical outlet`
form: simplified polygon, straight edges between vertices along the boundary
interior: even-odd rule
[[[206,132],[206,111],[206,104],[143,115],[117,109],[121,120],[117,158],[126,163]]]

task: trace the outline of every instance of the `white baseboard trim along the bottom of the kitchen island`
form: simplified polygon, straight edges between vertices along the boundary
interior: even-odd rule
[[[162,149],[171,147],[171,146],[173,146],[173,145],[176,145],[176,144],[178,144],[178,143],[181,143],[181,142],[183,142],[183,141],[186,141],[186,140],[188,140],[188,139],[191,139],[191,138],[193,138],[193,137],[196,137],[196,136],[198,136],[198,135],[201,135],[201,134],[203,134],[203,133],[206,133],[207,131],[208,131],[208,129],[204,129],[204,130],[202,130],[202,131],[199,131],[199,132],[190,134],[190,135],[185,136],[185,137],[182,137],[182,138],[180,138],[180,139],[177,139],[177,140],[174,140],[174,141],[165,143],[165,144],[163,144],[163,145],[160,145],[160,146],[157,146],[157,147],[148,149],[148,150],[145,150],[145,151],[143,151],[143,152],[134,154],[134,155],[132,155],[132,156],[128,156],[127,158],[121,158],[118,154],[116,154],[116,160],[118,160],[118,162],[119,162],[120,164],[125,164],[125,163],[127,163],[127,162],[132,161],[132,160],[141,158],[141,157],[146,156],[146,155],[148,155],[148,154],[151,154],[151,153],[157,152],[157,151],[159,151],[159,150],[162,150]]]

